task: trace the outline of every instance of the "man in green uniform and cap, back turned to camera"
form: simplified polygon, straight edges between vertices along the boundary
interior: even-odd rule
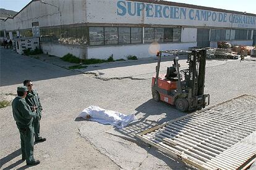
[[[30,106],[25,101],[27,87],[17,88],[18,96],[12,101],[12,113],[20,132],[20,144],[22,150],[22,160],[26,160],[28,166],[40,164],[33,156],[34,150],[34,129],[32,127],[33,118],[36,116],[35,107]]]

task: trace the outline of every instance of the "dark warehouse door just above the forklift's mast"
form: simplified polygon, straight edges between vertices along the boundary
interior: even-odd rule
[[[209,38],[209,29],[197,29],[197,47],[210,47]]]

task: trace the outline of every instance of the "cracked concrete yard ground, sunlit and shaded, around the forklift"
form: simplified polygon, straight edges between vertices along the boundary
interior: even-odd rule
[[[41,135],[47,141],[35,145],[41,164],[28,167],[20,161],[19,132],[11,107],[0,109],[1,169],[190,169],[186,164],[149,147],[135,134],[184,115],[174,107],[151,99],[151,76],[155,58],[90,65],[67,70],[70,63],[56,57],[37,59],[1,48],[0,94],[15,94],[24,79],[32,79],[43,105]],[[165,72],[171,65],[164,57]],[[186,59],[180,63],[185,68]],[[211,105],[242,94],[256,95],[256,62],[207,61],[205,92]],[[137,121],[124,129],[77,119],[90,105],[124,114],[135,113]]]

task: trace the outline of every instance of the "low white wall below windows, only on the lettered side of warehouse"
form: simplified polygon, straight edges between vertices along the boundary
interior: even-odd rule
[[[139,58],[155,56],[150,54],[149,49],[155,48],[157,45],[151,44],[134,44],[129,46],[96,46],[88,47],[88,59],[108,59],[113,54],[114,59],[126,59],[127,55],[136,55]],[[197,42],[187,43],[166,43],[159,44],[160,50],[183,49],[197,46]]]

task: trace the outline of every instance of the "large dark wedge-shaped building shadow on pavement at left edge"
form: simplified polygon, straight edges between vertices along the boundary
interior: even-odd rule
[[[0,47],[0,86],[22,84],[24,79],[40,81],[80,74]]]

